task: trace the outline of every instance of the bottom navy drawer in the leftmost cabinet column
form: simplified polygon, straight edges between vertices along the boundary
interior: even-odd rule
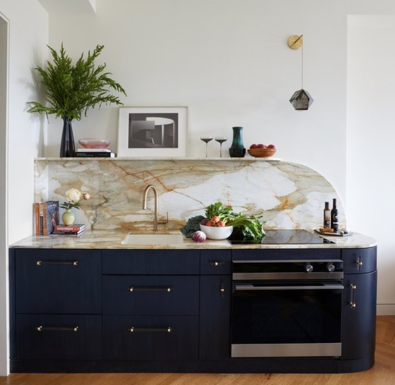
[[[17,315],[19,360],[102,359],[101,316]]]

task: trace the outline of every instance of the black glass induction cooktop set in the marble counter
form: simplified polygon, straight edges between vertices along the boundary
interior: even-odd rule
[[[303,229],[279,229],[279,230],[265,230],[266,235],[261,241],[251,241],[248,239],[236,239],[230,236],[228,241],[232,245],[240,244],[262,244],[262,245],[311,245],[333,243],[327,239],[320,237],[315,233],[310,233]]]

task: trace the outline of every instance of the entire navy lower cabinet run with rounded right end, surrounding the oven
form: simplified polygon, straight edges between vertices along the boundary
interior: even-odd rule
[[[341,356],[232,358],[233,261],[313,258],[343,261]],[[337,373],[374,363],[375,247],[11,248],[9,265],[11,372]]]

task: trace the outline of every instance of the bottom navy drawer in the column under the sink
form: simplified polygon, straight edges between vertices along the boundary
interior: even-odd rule
[[[193,361],[198,351],[198,316],[103,316],[105,360]]]

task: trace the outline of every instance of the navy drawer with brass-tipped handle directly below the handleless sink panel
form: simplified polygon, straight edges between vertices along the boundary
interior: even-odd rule
[[[103,276],[103,313],[198,315],[198,276]]]

